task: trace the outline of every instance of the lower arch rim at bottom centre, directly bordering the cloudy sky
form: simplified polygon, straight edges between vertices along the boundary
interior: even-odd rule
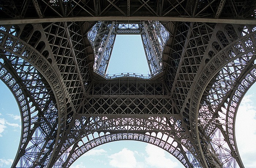
[[[176,157],[184,167],[200,167],[199,163],[196,161],[196,158],[187,151],[182,145],[175,143],[176,146],[169,144],[166,141],[161,140],[161,138],[157,138],[155,136],[151,136],[150,134],[145,133],[109,133],[105,134],[101,132],[103,136],[97,137],[94,136],[93,140],[80,140],[82,141],[82,145],[78,145],[75,143],[72,148],[69,148],[60,159],[54,164],[54,167],[70,167],[74,161],[76,161],[80,156],[84,153],[88,152],[90,149],[93,149],[99,145],[106,144],[108,142],[120,141],[120,140],[134,140],[147,142],[149,144],[156,145],[165,151],[169,152],[171,155]],[[173,143],[173,142],[172,142]],[[75,148],[75,150],[74,150]]]

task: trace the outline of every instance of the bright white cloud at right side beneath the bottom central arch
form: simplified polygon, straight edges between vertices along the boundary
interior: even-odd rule
[[[178,163],[165,156],[165,151],[155,145],[147,144],[146,152],[148,157],[145,157],[146,164],[157,168],[174,168]]]

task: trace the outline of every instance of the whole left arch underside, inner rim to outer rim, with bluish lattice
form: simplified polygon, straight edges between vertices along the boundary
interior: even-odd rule
[[[53,137],[61,132],[58,115],[66,110],[59,79],[49,63],[18,39],[19,35],[18,26],[1,26],[1,80],[19,102],[22,117],[22,137],[12,167],[37,167],[49,163],[51,155],[38,154],[51,154],[56,148],[57,139]]]

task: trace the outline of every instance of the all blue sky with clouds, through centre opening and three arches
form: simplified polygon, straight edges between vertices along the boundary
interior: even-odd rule
[[[116,37],[108,69],[109,74],[121,72],[147,74],[148,66],[141,38],[139,35],[132,38],[133,41],[129,39],[129,36],[128,39],[124,39],[121,35]],[[137,39],[138,43],[134,42],[134,39]],[[134,46],[118,49],[130,44]],[[125,58],[129,57],[132,62],[128,63],[128,60],[124,58],[118,60],[120,55]],[[115,67],[115,61],[120,63],[120,67]],[[128,66],[121,65],[121,63]],[[126,69],[123,69],[124,67]],[[0,90],[0,168],[6,168],[11,166],[18,149],[21,121],[16,101],[2,81],[0,81]],[[255,168],[256,85],[251,87],[238,109],[236,138],[245,168]],[[76,160],[71,168],[183,168],[183,165],[157,146],[138,141],[117,141],[91,149]]]

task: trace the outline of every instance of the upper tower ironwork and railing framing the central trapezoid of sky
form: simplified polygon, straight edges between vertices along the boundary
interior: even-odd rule
[[[162,54],[163,48],[169,39],[169,33],[160,22],[147,21],[130,24],[99,21],[93,26],[93,28],[91,28],[87,35],[95,51],[94,71],[96,73],[108,79],[130,76],[130,73],[125,75],[106,74],[114,45],[114,39],[118,34],[140,34],[142,37],[150,75],[132,75],[133,73],[131,73],[132,77],[151,78],[163,70]]]

